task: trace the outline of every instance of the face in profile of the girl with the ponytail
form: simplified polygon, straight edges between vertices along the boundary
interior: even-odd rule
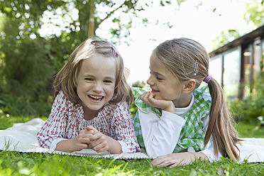
[[[150,77],[147,80],[155,99],[177,101],[182,96],[183,84],[160,62],[153,53],[150,57]]]

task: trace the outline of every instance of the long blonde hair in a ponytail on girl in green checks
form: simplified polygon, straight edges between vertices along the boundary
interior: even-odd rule
[[[209,55],[207,50],[195,40],[189,38],[167,40],[158,45],[153,53],[180,82],[195,79],[195,89],[208,76]],[[199,66],[197,75],[193,74],[195,61]],[[211,78],[208,86],[211,94],[211,108],[204,146],[212,137],[214,155],[218,156],[220,152],[226,158],[238,160],[236,148],[238,149],[237,144],[241,140],[238,139],[236,130],[232,126],[232,118],[226,106],[223,89],[214,78]]]

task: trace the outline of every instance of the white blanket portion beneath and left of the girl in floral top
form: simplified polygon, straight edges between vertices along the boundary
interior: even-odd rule
[[[101,158],[116,159],[146,159],[149,158],[145,153],[121,153],[113,155],[108,152],[97,153],[92,149],[83,149],[78,152],[65,153],[48,148],[41,148],[35,137],[45,121],[42,119],[33,119],[26,123],[14,123],[12,127],[6,130],[0,130],[0,150],[19,151],[23,153],[60,153],[63,155],[93,155]]]

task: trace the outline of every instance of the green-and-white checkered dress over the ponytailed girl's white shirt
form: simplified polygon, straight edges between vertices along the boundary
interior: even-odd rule
[[[144,113],[148,113],[149,111],[153,111],[158,117],[161,116],[161,109],[154,108],[145,104],[141,99],[141,94],[146,90],[133,87],[133,94],[135,97],[135,104],[138,106],[138,109],[143,111]],[[204,150],[204,136],[206,131],[204,131],[203,118],[207,116],[210,111],[211,99],[208,99],[209,89],[208,86],[202,87],[201,89],[194,90],[194,104],[192,105],[192,109],[189,110],[183,119],[186,120],[185,126],[182,127],[182,131],[180,133],[179,140],[173,153],[181,152],[189,147],[194,148],[194,150]],[[207,94],[207,97],[204,96]],[[145,148],[145,144],[143,141],[143,136],[141,132],[141,122],[138,117],[138,111],[136,112],[136,116],[133,119],[133,124],[136,132],[136,137],[138,138],[138,143],[141,145],[141,148]],[[207,146],[209,146],[208,143]]]

